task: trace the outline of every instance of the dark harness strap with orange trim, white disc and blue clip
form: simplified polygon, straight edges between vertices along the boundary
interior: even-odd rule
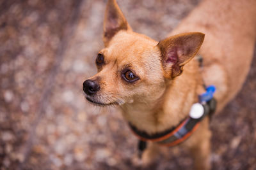
[[[200,122],[207,115],[211,116],[214,113],[216,108],[216,100],[213,98],[214,92],[214,86],[207,87],[205,93],[198,96],[199,103],[192,105],[189,116],[184,118],[176,127],[172,127],[164,132],[147,134],[147,132],[138,130],[132,124],[129,124],[129,126],[134,135],[141,141],[152,141],[164,146],[179,145],[196,131]]]

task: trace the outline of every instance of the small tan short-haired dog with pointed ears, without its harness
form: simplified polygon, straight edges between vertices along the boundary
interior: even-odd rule
[[[105,47],[96,57],[98,73],[83,83],[86,99],[97,106],[118,105],[142,140],[168,129],[173,136],[205,87],[216,88],[216,113],[239,92],[252,62],[255,16],[255,0],[202,1],[168,38],[155,41],[133,32],[116,1],[109,0]],[[203,66],[195,55],[202,56]],[[211,169],[209,117],[199,123],[180,146],[191,152],[195,169]],[[160,145],[151,141],[141,157],[145,165]]]

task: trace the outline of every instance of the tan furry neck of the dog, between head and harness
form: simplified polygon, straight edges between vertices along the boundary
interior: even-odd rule
[[[192,60],[177,78],[166,83],[166,89],[156,100],[147,103],[124,104],[121,106],[124,118],[140,131],[148,134],[163,132],[188,117],[198,94],[203,92],[202,77],[198,63]]]

